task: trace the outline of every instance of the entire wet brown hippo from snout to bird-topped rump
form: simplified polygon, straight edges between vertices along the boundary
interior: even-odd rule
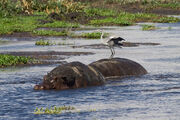
[[[89,65],[71,62],[54,68],[44,76],[35,90],[72,89],[103,85],[105,78],[144,75],[147,71],[138,63],[124,59],[101,59]]]

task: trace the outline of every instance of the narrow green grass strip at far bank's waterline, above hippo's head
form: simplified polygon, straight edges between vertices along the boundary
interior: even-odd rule
[[[68,33],[66,31],[53,31],[53,30],[34,30],[32,32],[34,35],[38,36],[67,36]]]

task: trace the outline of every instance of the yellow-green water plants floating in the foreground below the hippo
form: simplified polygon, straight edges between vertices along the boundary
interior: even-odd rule
[[[61,114],[63,111],[75,110],[72,106],[60,106],[60,107],[50,107],[50,108],[36,108],[34,114]]]

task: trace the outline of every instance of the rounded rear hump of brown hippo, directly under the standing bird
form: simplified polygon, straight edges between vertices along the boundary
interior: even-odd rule
[[[139,63],[125,58],[101,59],[89,64],[104,77],[124,77],[147,74]]]

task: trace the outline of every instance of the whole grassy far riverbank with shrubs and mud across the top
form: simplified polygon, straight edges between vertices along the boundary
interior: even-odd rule
[[[24,2],[4,0],[0,2],[0,36],[16,32],[28,32],[32,36],[69,36],[67,30],[79,28],[81,25],[129,26],[137,22],[174,23],[180,21],[178,18],[151,12],[152,8],[180,11],[179,1],[105,0],[99,3],[100,0],[86,2],[82,0],[24,0]],[[142,9],[143,12],[136,12],[136,9],[133,12],[126,10],[128,8],[123,9],[134,5],[140,5],[136,6],[136,9]],[[42,27],[64,29],[60,31],[37,30]],[[82,35],[86,38],[89,38],[88,36],[92,37],[88,34]]]

